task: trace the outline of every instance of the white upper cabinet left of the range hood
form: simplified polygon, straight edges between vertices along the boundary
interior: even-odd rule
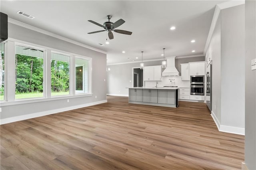
[[[144,81],[162,81],[161,65],[146,66],[143,68]]]

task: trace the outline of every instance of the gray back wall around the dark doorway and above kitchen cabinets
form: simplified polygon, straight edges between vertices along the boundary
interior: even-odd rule
[[[181,63],[205,61],[204,56],[176,58],[175,66],[181,72]],[[162,60],[144,62],[145,66],[161,65]],[[118,65],[108,65],[110,71],[107,72],[107,94],[128,95],[126,87],[132,87],[132,67],[140,67],[140,63],[127,63]],[[130,82],[131,81],[131,82]]]

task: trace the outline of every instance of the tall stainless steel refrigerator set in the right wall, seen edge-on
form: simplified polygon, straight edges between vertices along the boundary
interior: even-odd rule
[[[206,104],[210,111],[212,111],[212,62],[206,69]]]

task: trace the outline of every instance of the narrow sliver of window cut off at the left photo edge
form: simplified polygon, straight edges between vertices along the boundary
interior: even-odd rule
[[[4,43],[0,44],[0,101],[4,100]]]

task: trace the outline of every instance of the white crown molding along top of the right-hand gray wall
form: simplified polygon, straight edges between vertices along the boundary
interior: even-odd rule
[[[216,5],[215,11],[214,11],[214,15],[213,15],[213,18],[212,18],[212,24],[210,26],[210,30],[209,30],[209,33],[208,33],[206,44],[204,46],[204,55],[206,54],[206,51],[207,51],[208,46],[210,44],[210,40],[212,38],[212,34],[214,32],[214,28],[216,26],[218,17],[220,15],[220,10],[223,10],[223,9],[226,9],[226,8],[231,8],[233,6],[242,5],[244,3],[245,3],[245,0],[230,0],[230,1],[223,2],[223,3],[220,3],[220,4]]]

